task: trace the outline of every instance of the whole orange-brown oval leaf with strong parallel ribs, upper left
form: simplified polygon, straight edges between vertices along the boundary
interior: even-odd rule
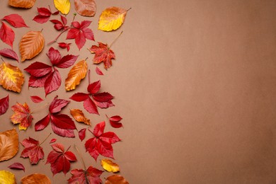
[[[19,50],[21,53],[21,62],[25,59],[33,59],[38,55],[44,47],[45,39],[41,31],[29,31],[19,43]]]

